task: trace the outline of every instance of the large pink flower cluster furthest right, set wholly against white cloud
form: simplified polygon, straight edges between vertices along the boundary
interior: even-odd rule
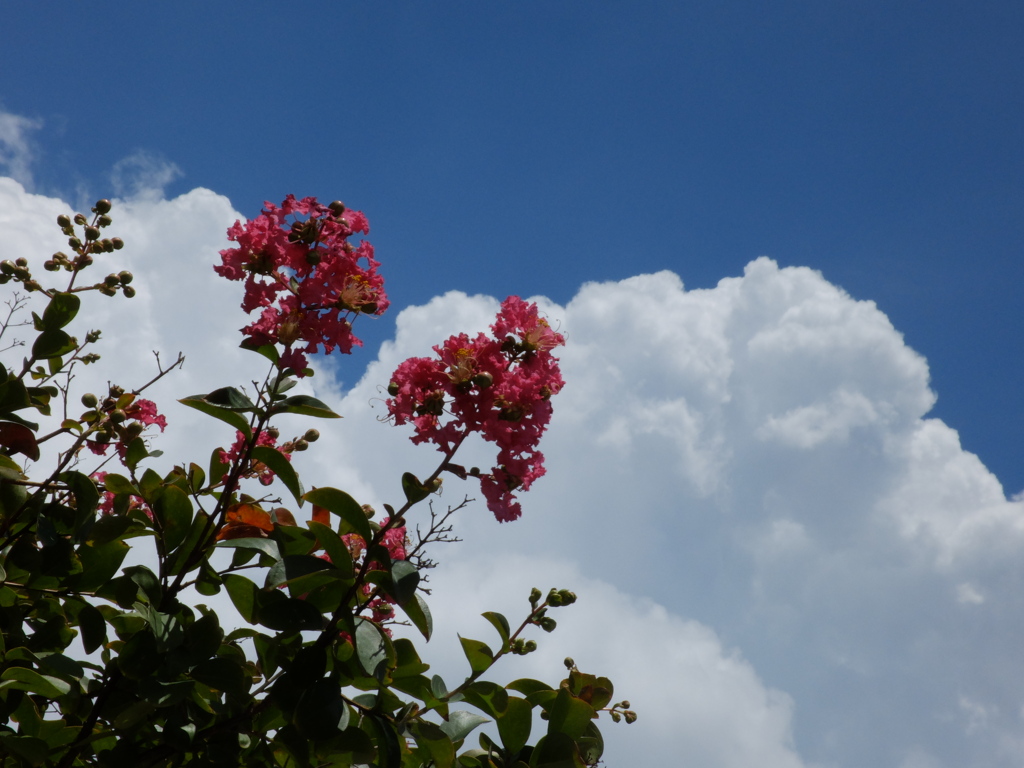
[[[514,492],[544,474],[537,444],[551,419],[551,396],[563,385],[551,350],[565,339],[518,296],[502,303],[490,330],[490,337],[453,336],[434,347],[436,357],[398,366],[387,408],[395,424],[413,423],[413,442],[432,442],[449,458],[472,432],[496,443],[496,466],[471,474],[505,522],[522,513]]]

